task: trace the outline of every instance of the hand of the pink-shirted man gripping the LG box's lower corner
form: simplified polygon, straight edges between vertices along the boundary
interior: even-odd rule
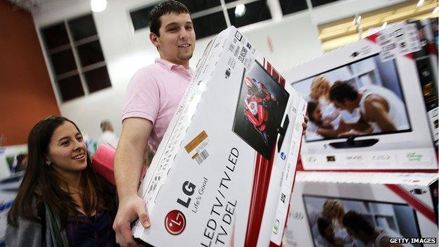
[[[120,200],[117,215],[113,223],[116,232],[116,243],[120,246],[140,246],[131,234],[131,223],[139,218],[142,226],[149,228],[150,219],[145,209],[145,201],[137,195],[128,196]]]

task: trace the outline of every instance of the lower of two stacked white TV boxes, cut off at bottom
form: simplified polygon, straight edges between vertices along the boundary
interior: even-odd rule
[[[356,246],[375,246],[360,241],[363,236],[350,236],[341,223],[349,212],[360,214],[374,231],[433,238],[429,241],[435,244],[424,246],[438,246],[436,173],[298,172],[290,203],[283,246],[329,246],[325,222],[333,227],[333,239],[344,240],[341,246],[352,246],[352,241]]]

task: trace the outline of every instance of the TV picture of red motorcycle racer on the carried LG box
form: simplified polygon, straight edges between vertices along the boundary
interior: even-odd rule
[[[244,70],[233,131],[270,160],[288,102],[288,92],[255,61]]]

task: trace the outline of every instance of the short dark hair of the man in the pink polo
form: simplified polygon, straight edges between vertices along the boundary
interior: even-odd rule
[[[157,4],[149,13],[149,28],[151,32],[153,32],[155,35],[160,37],[160,16],[166,15],[168,13],[174,13],[174,14],[182,14],[182,13],[188,13],[189,10],[184,6],[184,4],[180,3],[179,1],[169,0],[169,1],[163,1],[160,4]]]

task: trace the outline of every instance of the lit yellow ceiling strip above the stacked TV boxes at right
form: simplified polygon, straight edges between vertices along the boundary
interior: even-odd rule
[[[438,6],[438,0],[426,0],[419,7],[418,3],[418,0],[405,1],[402,4],[387,6],[376,11],[360,13],[363,33],[367,34],[367,30],[381,27],[384,23],[438,17],[438,13],[433,14],[433,10]],[[360,38],[353,20],[354,16],[319,25],[320,40],[324,51],[331,51]]]

